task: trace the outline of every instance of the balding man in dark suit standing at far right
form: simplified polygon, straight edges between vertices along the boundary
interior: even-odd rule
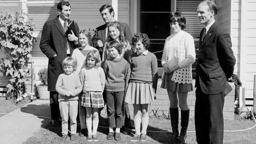
[[[197,7],[200,33],[196,67],[195,127],[198,144],[223,144],[224,91],[234,72],[236,58],[230,35],[214,18],[217,6],[210,0]],[[229,86],[229,85],[228,85]]]

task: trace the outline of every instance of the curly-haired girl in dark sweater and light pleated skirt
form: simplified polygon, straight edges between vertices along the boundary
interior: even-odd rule
[[[158,63],[156,55],[148,52],[149,38],[145,33],[135,33],[132,44],[137,52],[129,58],[131,74],[125,102],[134,105],[135,135],[130,139],[147,140],[148,104],[154,102],[158,82]],[[142,118],[141,118],[142,114]],[[142,130],[140,127],[142,124]]]

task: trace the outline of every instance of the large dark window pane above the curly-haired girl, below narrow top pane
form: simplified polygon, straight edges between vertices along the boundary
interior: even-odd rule
[[[150,39],[166,39],[170,35],[170,13],[141,13],[141,33]]]

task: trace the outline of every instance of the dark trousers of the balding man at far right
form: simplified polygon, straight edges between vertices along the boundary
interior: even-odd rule
[[[198,144],[223,144],[224,92],[204,94],[196,90],[195,129]]]

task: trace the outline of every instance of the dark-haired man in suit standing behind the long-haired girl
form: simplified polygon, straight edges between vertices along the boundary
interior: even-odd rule
[[[105,4],[105,5],[101,6],[100,14],[101,14],[102,19],[104,20],[105,24],[103,24],[102,26],[99,26],[95,30],[96,35],[101,39],[101,40],[98,40],[98,42],[96,43],[96,46],[95,46],[99,50],[99,52],[101,51],[100,48],[102,48],[102,50],[103,50],[103,46],[106,43],[106,39],[109,36],[108,28],[107,28],[108,24],[110,22],[115,22],[115,18],[114,18],[115,12],[111,5]],[[132,33],[130,31],[130,28],[128,27],[128,25],[126,23],[119,22],[119,24],[124,32],[124,37],[131,43],[132,42]],[[100,52],[100,57],[102,58],[102,52]],[[122,113],[123,113],[123,117],[125,117],[125,125],[128,128],[134,129],[134,125],[130,122],[130,111],[129,111],[128,103],[125,103],[124,107],[122,107]],[[100,109],[100,111],[101,111],[101,109]],[[124,111],[125,111],[125,116],[124,116]],[[99,114],[100,114],[100,112],[99,112]],[[128,134],[126,132],[125,127],[121,128],[121,133]]]

